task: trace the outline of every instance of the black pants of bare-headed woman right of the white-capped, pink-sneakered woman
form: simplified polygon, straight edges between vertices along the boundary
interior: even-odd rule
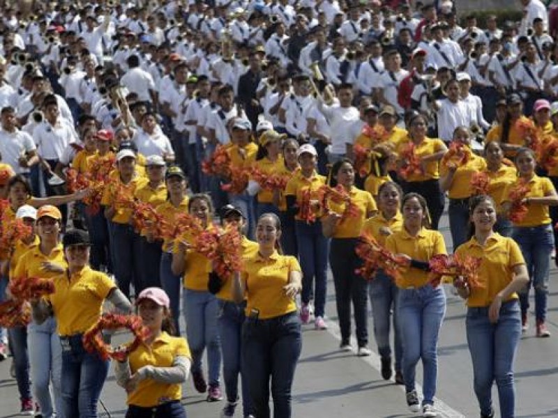
[[[359,347],[368,345],[368,282],[355,270],[361,261],[354,248],[356,238],[332,238],[329,250],[329,265],[335,284],[335,302],[341,329],[342,343],[351,338],[351,300],[354,307],[356,340]]]

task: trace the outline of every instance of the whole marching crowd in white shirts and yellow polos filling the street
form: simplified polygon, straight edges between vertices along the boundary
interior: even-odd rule
[[[432,270],[453,252],[478,261],[452,282],[481,417],[494,382],[514,417],[520,336],[550,336],[558,238],[558,9],[517,6],[479,27],[449,0],[4,5],[0,322],[15,281],[54,283],[0,328],[21,414],[97,416],[110,362],[83,335],[110,309],[149,329],[112,360],[126,417],[186,417],[190,375],[220,417],[291,417],[330,268],[340,350],[371,354],[370,300],[382,377],[436,417]],[[197,240],[231,229],[242,268],[225,276]],[[395,272],[363,274],[363,240]]]

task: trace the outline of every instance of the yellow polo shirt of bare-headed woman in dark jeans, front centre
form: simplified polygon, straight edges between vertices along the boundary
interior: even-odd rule
[[[276,318],[296,311],[296,301],[287,297],[283,287],[289,283],[290,272],[300,272],[301,266],[293,256],[281,256],[275,251],[269,258],[259,252],[246,259],[242,279],[246,283],[246,316],[252,309],[259,319]]]

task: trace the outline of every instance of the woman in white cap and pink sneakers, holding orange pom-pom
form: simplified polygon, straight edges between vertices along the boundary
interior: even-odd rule
[[[317,171],[318,153],[310,144],[304,144],[296,151],[300,171],[297,171],[287,183],[285,199],[287,212],[294,215],[296,245],[299,248],[299,260],[302,267],[302,323],[310,323],[310,295],[314,288],[314,326],[318,330],[325,330],[324,321],[327,293],[327,254],[328,240],[322,233],[322,211],[319,208],[319,188],[325,185],[326,179]],[[305,199],[308,195],[309,199]],[[315,219],[302,219],[303,201],[308,200],[308,211],[315,215]],[[314,281],[312,286],[312,281]]]

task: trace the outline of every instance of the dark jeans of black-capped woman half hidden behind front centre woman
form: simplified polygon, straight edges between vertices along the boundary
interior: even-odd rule
[[[242,379],[243,415],[252,413],[248,379],[242,362],[242,324],[246,304],[236,304],[228,300],[219,300],[219,336],[223,354],[223,380],[227,401],[236,402],[239,398],[239,373]]]

